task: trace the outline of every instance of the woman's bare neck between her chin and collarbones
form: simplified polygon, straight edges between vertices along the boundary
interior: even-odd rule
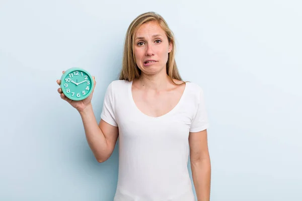
[[[145,89],[159,91],[168,87],[170,78],[166,72],[156,75],[146,75],[142,73],[137,81],[139,85]]]

